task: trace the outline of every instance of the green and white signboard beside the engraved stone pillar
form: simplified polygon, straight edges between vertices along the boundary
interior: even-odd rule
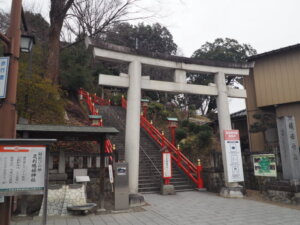
[[[276,160],[274,154],[253,155],[253,168],[255,176],[276,177]]]

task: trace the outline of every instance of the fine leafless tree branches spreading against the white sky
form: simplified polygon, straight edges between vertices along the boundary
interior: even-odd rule
[[[137,12],[130,11],[138,1],[75,0],[65,27],[79,39],[84,36],[99,37],[114,23],[138,19],[134,15]]]

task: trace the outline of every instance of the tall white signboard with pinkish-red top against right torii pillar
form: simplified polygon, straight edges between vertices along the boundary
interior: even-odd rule
[[[240,135],[238,130],[224,130],[228,182],[244,181]]]

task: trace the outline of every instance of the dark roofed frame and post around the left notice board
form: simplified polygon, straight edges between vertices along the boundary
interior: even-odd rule
[[[46,159],[45,159],[45,177],[44,177],[44,190],[30,190],[30,191],[12,191],[5,194],[5,197],[18,196],[18,195],[44,195],[44,205],[43,205],[43,219],[42,225],[47,224],[47,201],[48,201],[48,161],[49,161],[49,147],[55,143],[56,139],[2,139],[0,138],[0,145],[22,145],[22,146],[34,146],[43,145],[46,147]]]

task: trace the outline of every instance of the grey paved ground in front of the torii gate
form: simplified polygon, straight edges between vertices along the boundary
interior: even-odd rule
[[[300,225],[300,211],[245,200],[225,199],[202,192],[174,196],[145,195],[143,212],[49,218],[49,225]],[[13,225],[40,224],[38,221]]]

